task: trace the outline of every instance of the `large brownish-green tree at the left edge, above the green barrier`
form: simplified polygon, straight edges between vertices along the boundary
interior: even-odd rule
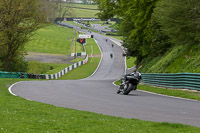
[[[26,71],[26,42],[45,22],[38,0],[0,0],[0,68]]]

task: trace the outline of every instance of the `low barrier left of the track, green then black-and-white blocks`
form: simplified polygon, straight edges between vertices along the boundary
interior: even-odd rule
[[[86,55],[85,60],[74,63],[73,65],[63,69],[56,74],[30,74],[30,73],[20,73],[20,72],[2,72],[0,71],[0,78],[29,78],[29,79],[58,79],[67,72],[84,65],[88,62],[88,55]]]

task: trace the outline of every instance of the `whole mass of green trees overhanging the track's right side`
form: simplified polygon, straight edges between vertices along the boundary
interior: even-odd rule
[[[199,0],[96,0],[101,19],[120,18],[119,29],[137,65],[176,45],[199,45]]]

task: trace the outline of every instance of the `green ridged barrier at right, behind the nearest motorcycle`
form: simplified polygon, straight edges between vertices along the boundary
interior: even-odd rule
[[[200,90],[200,73],[142,73],[142,83],[166,88]]]

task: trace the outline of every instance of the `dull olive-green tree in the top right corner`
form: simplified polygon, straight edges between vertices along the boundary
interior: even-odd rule
[[[199,0],[160,0],[154,16],[174,45],[199,44]]]

